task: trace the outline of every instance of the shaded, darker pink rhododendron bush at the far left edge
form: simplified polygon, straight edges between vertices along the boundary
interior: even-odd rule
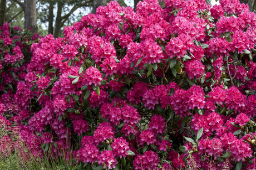
[[[18,156],[39,158],[40,140],[24,122],[32,114],[34,92],[25,81],[27,66],[32,57],[31,44],[38,34],[19,27],[0,27],[0,155],[10,156],[14,150]],[[26,91],[24,93],[24,91]],[[20,102],[20,101],[23,102]],[[34,99],[34,101],[36,101]],[[7,120],[9,119],[9,120]],[[20,120],[21,122],[17,122]],[[17,125],[18,123],[18,125]],[[14,126],[13,126],[14,125]],[[28,155],[28,148],[29,154]]]

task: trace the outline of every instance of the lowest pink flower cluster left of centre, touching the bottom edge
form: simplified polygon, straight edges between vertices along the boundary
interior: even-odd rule
[[[99,164],[103,164],[104,168],[112,169],[115,168],[117,161],[112,151],[102,151],[99,157]]]

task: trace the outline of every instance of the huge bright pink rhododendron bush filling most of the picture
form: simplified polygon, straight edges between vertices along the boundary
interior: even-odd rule
[[[32,44],[1,114],[87,169],[255,169],[255,24],[238,0],[111,1]]]

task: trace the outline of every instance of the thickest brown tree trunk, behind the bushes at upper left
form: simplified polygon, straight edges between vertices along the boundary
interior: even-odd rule
[[[37,27],[37,11],[36,0],[24,0],[24,28],[31,28],[32,32],[36,33]]]

